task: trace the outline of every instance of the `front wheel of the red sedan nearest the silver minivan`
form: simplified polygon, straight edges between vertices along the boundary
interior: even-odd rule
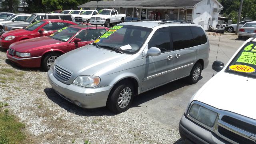
[[[58,58],[60,56],[60,54],[58,53],[50,53],[50,54],[46,54],[46,56],[43,57],[42,59],[42,64],[41,67],[48,71],[50,70],[52,63],[56,60],[56,58]]]

